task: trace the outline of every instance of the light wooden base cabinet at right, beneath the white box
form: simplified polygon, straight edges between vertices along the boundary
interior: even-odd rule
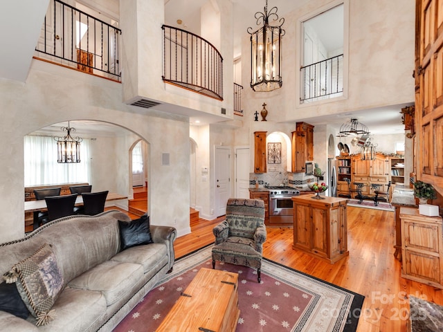
[[[401,208],[401,277],[443,288],[442,217]]]

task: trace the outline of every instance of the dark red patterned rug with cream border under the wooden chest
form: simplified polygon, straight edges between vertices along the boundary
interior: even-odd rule
[[[212,268],[211,248],[178,259],[167,275],[114,329],[155,331],[174,302],[202,268]],[[264,259],[262,282],[251,268],[216,263],[239,274],[237,332],[356,331],[364,297]]]

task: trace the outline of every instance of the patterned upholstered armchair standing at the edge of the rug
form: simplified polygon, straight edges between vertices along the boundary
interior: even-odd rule
[[[263,243],[266,241],[264,202],[260,199],[228,199],[226,220],[213,229],[215,261],[257,269],[260,283]]]

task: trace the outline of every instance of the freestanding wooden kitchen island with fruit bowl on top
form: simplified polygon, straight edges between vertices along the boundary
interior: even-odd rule
[[[292,198],[293,248],[334,264],[347,250],[347,199],[311,195]]]

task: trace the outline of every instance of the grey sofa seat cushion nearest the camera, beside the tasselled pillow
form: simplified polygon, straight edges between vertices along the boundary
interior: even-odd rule
[[[107,315],[106,299],[102,293],[69,286],[64,288],[53,308],[57,317],[47,325],[39,326],[40,332],[91,331],[91,326]]]

